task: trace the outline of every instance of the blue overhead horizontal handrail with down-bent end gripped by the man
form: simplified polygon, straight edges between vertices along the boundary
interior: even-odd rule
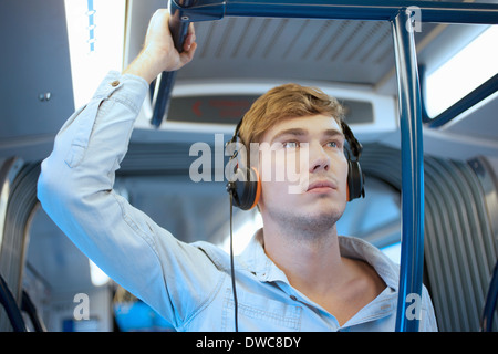
[[[423,22],[497,24],[498,6],[467,2],[412,1]],[[406,2],[383,0],[169,0],[169,29],[176,49],[181,52],[190,22],[212,21],[224,17],[279,17],[393,21]],[[167,116],[176,72],[163,72],[156,80],[152,125],[159,127]]]

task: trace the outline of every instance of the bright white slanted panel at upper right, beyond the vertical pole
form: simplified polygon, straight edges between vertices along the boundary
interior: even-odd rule
[[[425,107],[429,117],[473,92],[498,73],[498,27],[491,25],[426,76]]]

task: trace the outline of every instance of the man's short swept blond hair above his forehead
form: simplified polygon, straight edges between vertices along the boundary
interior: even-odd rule
[[[344,108],[338,100],[317,87],[298,84],[277,86],[256,100],[246,113],[239,137],[246,146],[260,143],[264,132],[278,122],[317,114],[329,115],[341,126]]]

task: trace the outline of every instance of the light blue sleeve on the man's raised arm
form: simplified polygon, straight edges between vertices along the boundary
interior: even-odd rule
[[[38,198],[92,261],[178,326],[214,295],[224,272],[113,190],[147,90],[141,77],[111,72],[58,133]]]

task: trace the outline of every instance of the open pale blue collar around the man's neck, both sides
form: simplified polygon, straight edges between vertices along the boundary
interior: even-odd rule
[[[397,291],[398,266],[391,261],[381,250],[371,243],[351,236],[339,236],[341,256],[359,259],[372,266],[387,287]],[[259,229],[239,256],[240,264],[252,272],[260,281],[284,281],[286,274],[264,253],[262,229]]]

